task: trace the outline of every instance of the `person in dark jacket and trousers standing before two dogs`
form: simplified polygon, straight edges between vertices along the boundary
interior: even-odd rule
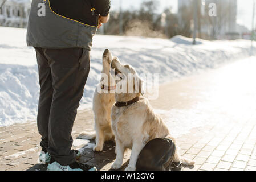
[[[110,0],[33,0],[27,46],[38,61],[38,131],[48,170],[87,171],[71,150],[76,109],[90,70],[92,37],[109,20]],[[44,158],[44,159],[43,159]]]

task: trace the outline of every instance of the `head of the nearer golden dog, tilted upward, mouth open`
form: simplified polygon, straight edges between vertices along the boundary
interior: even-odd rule
[[[111,62],[111,68],[115,70],[116,84],[126,84],[127,93],[132,92],[143,95],[143,80],[141,80],[131,65],[121,64],[119,59],[114,56]]]

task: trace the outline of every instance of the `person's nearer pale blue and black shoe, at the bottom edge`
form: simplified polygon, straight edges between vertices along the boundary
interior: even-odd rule
[[[78,162],[74,162],[68,166],[62,166],[55,161],[48,165],[47,171],[97,171],[97,168]]]

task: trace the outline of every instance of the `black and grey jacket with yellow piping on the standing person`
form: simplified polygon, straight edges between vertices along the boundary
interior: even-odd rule
[[[110,0],[33,0],[27,46],[91,50],[99,15],[107,16],[109,9]]]

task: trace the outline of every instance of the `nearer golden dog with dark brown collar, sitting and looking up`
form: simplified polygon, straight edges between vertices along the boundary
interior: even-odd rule
[[[116,141],[116,160],[112,169],[121,167],[124,151],[126,148],[130,148],[132,153],[125,170],[135,171],[138,155],[149,140],[166,137],[172,139],[174,143],[176,142],[161,117],[154,113],[148,99],[142,96],[142,80],[135,69],[130,65],[121,64],[117,57],[113,58],[111,67],[115,69],[115,75],[118,75],[115,78],[116,104],[111,109],[111,125]],[[193,165],[192,160],[178,154],[177,148],[173,161]]]

